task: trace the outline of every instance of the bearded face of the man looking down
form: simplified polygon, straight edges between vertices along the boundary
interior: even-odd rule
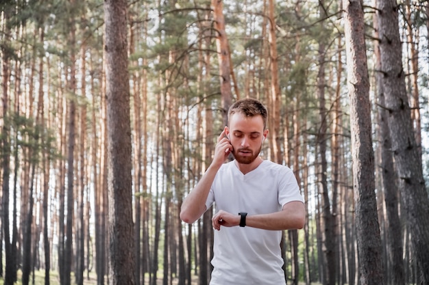
[[[227,135],[230,138],[232,155],[238,163],[250,164],[255,161],[267,137],[262,116],[246,117],[241,113],[230,116]]]

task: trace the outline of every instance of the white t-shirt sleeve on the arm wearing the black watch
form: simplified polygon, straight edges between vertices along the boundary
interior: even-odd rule
[[[284,172],[280,174],[278,191],[278,202],[282,207],[292,201],[304,202],[297,179],[288,167],[285,167]]]

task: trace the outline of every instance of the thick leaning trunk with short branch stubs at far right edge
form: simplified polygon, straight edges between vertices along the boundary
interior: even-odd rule
[[[410,114],[402,67],[402,44],[395,0],[377,2],[381,70],[383,74],[383,108],[389,111],[387,122],[401,198],[412,236],[413,254],[417,260],[417,283],[429,283],[429,198],[423,178],[419,146]]]

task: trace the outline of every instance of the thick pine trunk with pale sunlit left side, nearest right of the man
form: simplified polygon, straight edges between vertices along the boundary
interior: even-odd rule
[[[363,3],[344,0],[343,8],[360,284],[382,285]]]

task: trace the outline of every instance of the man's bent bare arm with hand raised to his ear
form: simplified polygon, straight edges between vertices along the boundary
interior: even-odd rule
[[[210,187],[212,187],[216,174],[228,157],[232,146],[225,134],[226,127],[217,139],[215,155],[206,173],[201,177],[195,188],[186,196],[180,208],[180,219],[185,223],[197,221],[206,211],[206,201]]]

